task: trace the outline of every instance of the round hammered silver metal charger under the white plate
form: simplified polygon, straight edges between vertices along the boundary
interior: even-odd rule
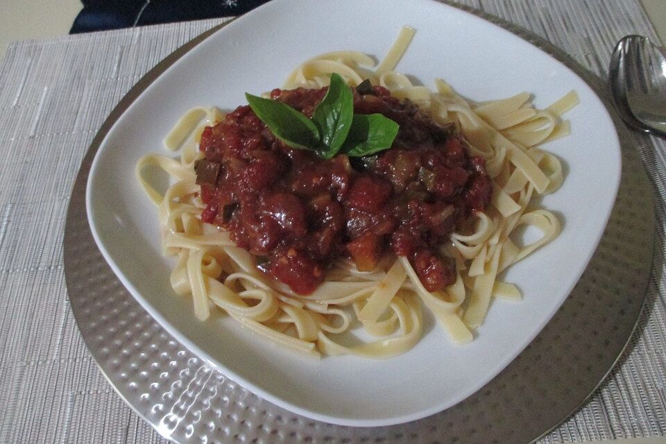
[[[601,243],[561,309],[502,373],[470,398],[429,418],[390,427],[343,427],[298,416],[246,391],[173,339],[130,296],[99,253],[87,223],[85,185],[114,121],[164,69],[220,25],[160,62],[113,110],[83,160],[65,227],[65,277],[83,339],[119,395],[162,436],[176,443],[529,443],[578,409],[619,359],[644,302],[654,234],[652,207],[644,200],[650,186],[631,137],[596,76],[540,37],[463,9],[570,67],[595,89],[615,119],[622,144],[620,190]]]

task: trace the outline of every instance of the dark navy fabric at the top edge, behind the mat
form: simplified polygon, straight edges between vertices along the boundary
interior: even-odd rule
[[[186,20],[230,17],[268,0],[83,0],[70,34]],[[145,8],[144,8],[145,6]],[[142,10],[143,8],[143,10]]]

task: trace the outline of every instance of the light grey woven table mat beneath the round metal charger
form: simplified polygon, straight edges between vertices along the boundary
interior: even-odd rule
[[[530,29],[604,78],[622,35],[655,37],[636,0],[462,3]],[[0,63],[1,443],[164,442],[85,348],[67,300],[62,235],[78,165],[110,110],[148,69],[217,23],[19,42]],[[543,443],[666,436],[666,143],[638,133],[634,141],[656,203],[647,307],[608,379]]]

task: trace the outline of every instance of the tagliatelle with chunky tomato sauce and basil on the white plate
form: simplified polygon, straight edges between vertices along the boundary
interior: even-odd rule
[[[568,133],[577,96],[536,110],[528,93],[471,103],[443,80],[413,85],[393,71],[413,33],[374,69],[326,53],[232,112],[195,108],[164,141],[179,160],[139,160],[197,318],[218,307],[307,355],[390,357],[420,339],[422,306],[466,343],[490,298],[520,299],[497,275],[560,230],[529,208],[563,180],[536,146]],[[151,165],[173,178],[164,194]],[[522,225],[542,236],[519,246]]]

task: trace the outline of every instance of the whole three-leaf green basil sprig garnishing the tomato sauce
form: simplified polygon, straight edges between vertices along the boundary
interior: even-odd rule
[[[364,89],[368,86],[371,91],[369,82]],[[362,157],[391,148],[400,128],[382,114],[354,114],[354,95],[338,74],[331,74],[328,91],[312,119],[280,101],[248,93],[245,96],[275,137],[292,148],[315,151],[325,159],[332,159],[340,151]]]

